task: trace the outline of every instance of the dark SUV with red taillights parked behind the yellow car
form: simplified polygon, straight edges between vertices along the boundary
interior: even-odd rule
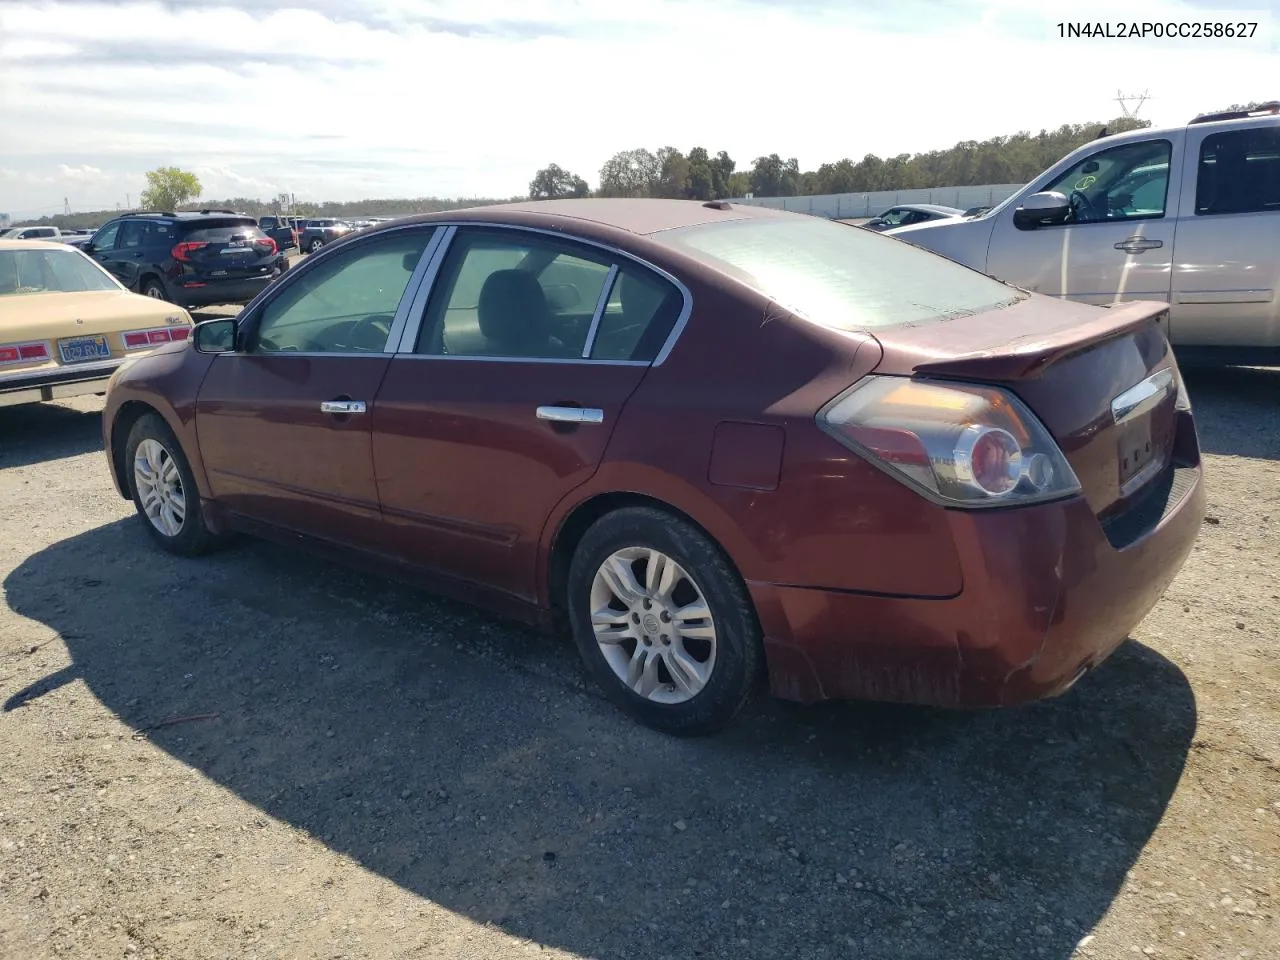
[[[232,210],[125,214],[81,250],[129,289],[184,307],[248,303],[289,269],[257,220]]]

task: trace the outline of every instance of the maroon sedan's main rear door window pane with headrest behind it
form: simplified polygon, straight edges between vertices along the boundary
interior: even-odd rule
[[[417,351],[581,357],[612,260],[517,230],[460,230],[436,278]]]

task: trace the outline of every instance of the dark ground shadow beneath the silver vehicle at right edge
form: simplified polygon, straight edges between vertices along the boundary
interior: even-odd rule
[[[1280,369],[1187,367],[1183,379],[1207,453],[1280,460]]]

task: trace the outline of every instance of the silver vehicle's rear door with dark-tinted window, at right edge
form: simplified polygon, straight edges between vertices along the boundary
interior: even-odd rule
[[[1280,347],[1280,127],[1187,136],[1174,343]]]

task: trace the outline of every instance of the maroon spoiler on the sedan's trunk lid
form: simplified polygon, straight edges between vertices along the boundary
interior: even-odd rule
[[[1064,326],[1041,337],[1014,337],[1002,343],[998,351],[928,361],[916,364],[914,369],[925,376],[1025,380],[1038,376],[1066,357],[1156,324],[1167,312],[1167,303],[1149,300],[1107,305],[1083,324]]]

